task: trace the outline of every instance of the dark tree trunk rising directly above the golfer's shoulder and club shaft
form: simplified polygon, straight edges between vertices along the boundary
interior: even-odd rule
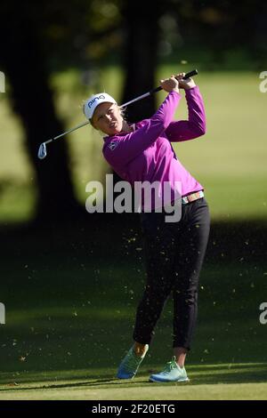
[[[125,86],[122,102],[134,99],[155,87],[158,50],[158,18],[162,2],[141,0],[125,2]],[[151,117],[155,96],[137,101],[127,109],[130,122]]]

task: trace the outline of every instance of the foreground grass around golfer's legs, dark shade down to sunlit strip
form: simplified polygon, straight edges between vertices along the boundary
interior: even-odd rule
[[[132,254],[139,243],[127,247],[131,256],[122,257],[116,242],[112,256],[107,246],[96,258],[74,234],[71,243],[67,236],[6,241],[0,399],[267,398],[267,328],[259,322],[267,294],[263,263],[206,262],[189,383],[148,382],[172,356],[171,298],[140,374],[121,382],[117,365],[132,343],[144,284],[142,261]]]

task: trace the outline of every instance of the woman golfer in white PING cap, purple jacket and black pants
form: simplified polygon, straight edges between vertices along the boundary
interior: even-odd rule
[[[161,87],[168,93],[166,99],[155,115],[134,125],[125,121],[116,100],[107,93],[93,95],[84,106],[93,127],[107,135],[103,138],[103,155],[122,179],[132,185],[135,181],[167,181],[172,192],[175,181],[182,185],[180,221],[166,222],[166,211],[160,213],[155,206],[141,213],[147,284],[136,312],[134,345],[118,368],[119,379],[136,374],[164,304],[173,293],[174,355],[163,371],[150,375],[150,381],[189,380],[184,361],[197,318],[198,277],[206,253],[210,216],[203,186],[183,167],[171,145],[198,138],[206,131],[198,86],[190,78],[182,80],[183,76],[180,73],[161,80]],[[174,111],[182,98],[179,89],[185,90],[189,117],[174,121]]]

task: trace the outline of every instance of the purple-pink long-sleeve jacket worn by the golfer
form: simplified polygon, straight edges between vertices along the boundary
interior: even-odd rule
[[[171,142],[198,138],[206,132],[204,103],[198,86],[185,90],[185,97],[188,120],[173,120],[182,98],[179,92],[173,91],[150,119],[132,125],[134,132],[104,137],[103,156],[132,186],[134,181],[162,184],[167,181],[174,190],[174,181],[181,181],[182,196],[204,189],[180,163],[171,145]]]

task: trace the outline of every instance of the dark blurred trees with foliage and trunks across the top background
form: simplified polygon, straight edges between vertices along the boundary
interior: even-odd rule
[[[84,213],[77,202],[69,142],[58,141],[47,160],[36,159],[39,143],[66,128],[53,76],[75,69],[80,80],[73,96],[79,92],[86,97],[106,87],[101,72],[112,65],[121,76],[111,76],[109,83],[117,92],[119,78],[118,99],[123,102],[155,86],[162,63],[198,62],[202,71],[264,69],[266,15],[266,5],[251,0],[4,2],[0,69],[25,135],[36,220],[62,221]],[[155,100],[128,109],[129,120],[149,117]]]

